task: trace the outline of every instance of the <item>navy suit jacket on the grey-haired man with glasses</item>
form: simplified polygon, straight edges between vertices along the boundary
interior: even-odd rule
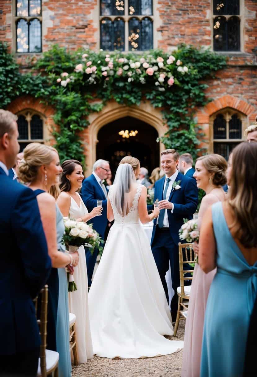
[[[107,190],[107,189],[106,189]],[[108,190],[107,190],[108,193]],[[104,239],[104,233],[107,227],[107,199],[104,195],[104,192],[101,189],[101,186],[96,181],[95,176],[91,174],[89,177],[84,179],[81,195],[83,202],[85,203],[87,210],[92,211],[94,207],[97,207],[97,200],[102,199],[102,216],[95,216],[89,221],[93,224],[93,228],[100,234]]]

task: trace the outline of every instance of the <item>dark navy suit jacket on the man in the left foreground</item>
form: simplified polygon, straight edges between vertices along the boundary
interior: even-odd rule
[[[0,168],[0,354],[40,345],[32,302],[51,269],[37,199]]]

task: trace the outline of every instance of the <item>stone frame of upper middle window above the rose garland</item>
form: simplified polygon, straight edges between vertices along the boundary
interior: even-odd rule
[[[115,0],[114,0],[115,1]],[[161,20],[160,18],[158,17],[159,16],[159,12],[158,12],[158,0],[152,0],[152,6],[153,6],[153,14],[152,15],[129,15],[129,11],[128,11],[128,0],[124,0],[124,15],[113,15],[113,16],[110,16],[110,15],[101,15],[101,2],[100,0],[97,2],[98,3],[98,27],[97,27],[97,46],[96,46],[96,49],[100,49],[100,40],[101,40],[101,31],[100,31],[100,24],[101,24],[101,20],[104,19],[104,18],[109,18],[110,20],[115,20],[117,18],[122,18],[122,20],[124,20],[124,27],[125,27],[125,32],[124,32],[124,38],[125,38],[125,48],[124,48],[124,51],[122,51],[123,53],[127,53],[127,52],[131,52],[128,47],[129,47],[129,41],[128,41],[128,37],[129,37],[129,31],[128,31],[128,20],[130,20],[130,18],[133,18],[133,17],[136,17],[138,18],[140,21],[143,19],[143,18],[150,18],[153,22],[153,49],[156,49],[158,48],[158,28],[159,26],[161,25]],[[97,8],[97,7],[96,7]],[[135,49],[133,52],[145,52],[145,51],[141,51],[141,50],[137,50]]]

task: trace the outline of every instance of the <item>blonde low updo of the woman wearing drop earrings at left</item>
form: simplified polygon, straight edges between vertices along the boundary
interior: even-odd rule
[[[40,143],[31,143],[23,150],[23,159],[18,166],[18,177],[24,183],[34,182],[38,176],[38,169],[42,165],[49,165],[53,161],[53,147]],[[58,153],[58,152],[57,152]]]

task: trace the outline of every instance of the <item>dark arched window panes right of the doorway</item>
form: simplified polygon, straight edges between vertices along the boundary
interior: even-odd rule
[[[232,149],[242,141],[242,115],[223,110],[213,120],[213,152],[228,159]]]

